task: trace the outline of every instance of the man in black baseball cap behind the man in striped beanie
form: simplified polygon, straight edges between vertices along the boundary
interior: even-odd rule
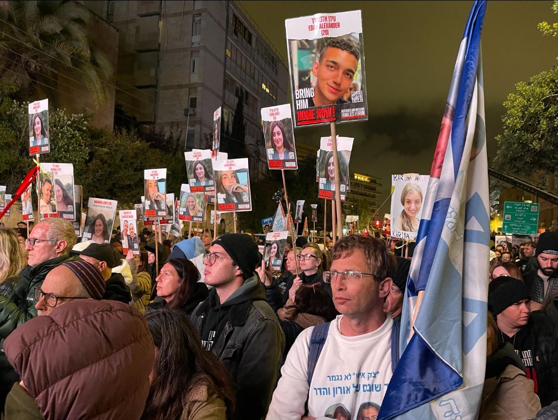
[[[105,279],[106,290],[103,299],[123,303],[129,303],[132,300],[132,294],[122,274],[112,272],[112,269],[117,266],[117,262],[110,245],[93,242],[81,251],[73,250],[72,252],[79,255],[84,261],[97,267]]]

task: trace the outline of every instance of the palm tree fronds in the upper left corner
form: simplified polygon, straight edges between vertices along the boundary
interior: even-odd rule
[[[108,97],[113,67],[88,32],[89,10],[70,1],[0,1],[0,97],[47,93],[83,83],[99,107]]]

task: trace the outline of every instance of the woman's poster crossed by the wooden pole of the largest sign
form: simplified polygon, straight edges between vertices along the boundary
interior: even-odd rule
[[[337,153],[339,161],[339,188],[341,201],[345,201],[345,195],[349,191],[349,161],[353,149],[352,137],[337,136]],[[318,197],[320,199],[335,199],[335,171],[333,165],[333,145],[331,137],[321,137],[320,149],[318,151]]]

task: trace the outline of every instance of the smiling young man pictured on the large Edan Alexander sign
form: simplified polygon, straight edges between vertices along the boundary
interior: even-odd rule
[[[353,84],[357,73],[359,47],[345,38],[331,38],[320,51],[320,58],[312,66],[316,78],[314,98],[309,98],[309,107],[345,104],[343,99]]]

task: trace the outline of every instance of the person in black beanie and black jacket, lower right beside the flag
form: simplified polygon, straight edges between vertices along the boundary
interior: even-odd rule
[[[557,331],[542,311],[530,314],[530,299],[526,284],[516,278],[500,276],[488,285],[488,310],[500,330],[498,342],[513,346],[545,407],[558,400]]]

